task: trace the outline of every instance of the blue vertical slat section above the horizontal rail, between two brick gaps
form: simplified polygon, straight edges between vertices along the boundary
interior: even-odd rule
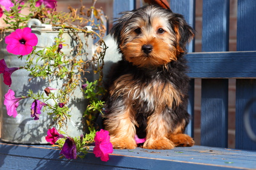
[[[228,50],[229,0],[203,1],[202,51]]]

